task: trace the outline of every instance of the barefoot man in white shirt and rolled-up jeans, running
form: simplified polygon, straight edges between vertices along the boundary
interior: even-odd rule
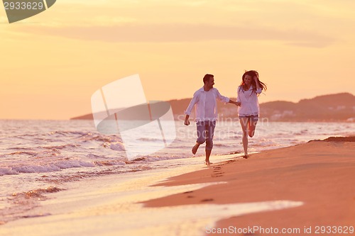
[[[217,99],[224,101],[225,103],[233,103],[236,106],[240,106],[239,102],[231,101],[226,96],[219,94],[219,91],[213,87],[214,76],[213,74],[206,74],[203,77],[204,86],[197,90],[190,101],[190,105],[185,111],[185,125],[190,125],[190,114],[192,108],[195,106],[196,126],[197,126],[197,141],[194,147],[192,147],[192,154],[196,154],[197,149],[206,142],[206,164],[212,164],[209,162],[209,156],[213,147],[213,135],[214,127],[217,120]]]

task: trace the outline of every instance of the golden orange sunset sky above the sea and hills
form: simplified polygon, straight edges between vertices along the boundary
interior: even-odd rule
[[[268,84],[261,103],[355,94],[354,9],[349,0],[58,0],[9,24],[1,8],[0,118],[90,113],[94,91],[131,74],[148,100],[191,97],[206,73],[235,97],[244,69]]]

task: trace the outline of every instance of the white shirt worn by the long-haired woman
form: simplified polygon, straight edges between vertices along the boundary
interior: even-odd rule
[[[256,89],[256,93],[253,92],[253,86],[250,86],[248,91],[244,91],[243,87],[239,86],[236,101],[241,102],[241,106],[238,108],[239,116],[257,116],[260,113],[259,102],[257,94],[261,94],[262,89]]]

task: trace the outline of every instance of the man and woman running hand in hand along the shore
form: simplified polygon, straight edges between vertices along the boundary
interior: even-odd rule
[[[256,123],[259,116],[258,95],[263,90],[266,90],[266,84],[260,81],[258,72],[255,70],[246,71],[241,77],[241,85],[238,87],[238,96],[236,101],[231,101],[226,96],[219,94],[219,91],[213,87],[213,74],[204,75],[204,86],[197,90],[190,101],[189,106],[185,111],[185,125],[190,125],[190,114],[192,108],[195,107],[195,121],[197,126],[197,140],[194,147],[192,147],[192,154],[196,154],[197,149],[206,142],[206,159],[207,165],[209,156],[213,147],[214,127],[217,120],[217,99],[225,103],[233,103],[238,106],[238,116],[243,130],[243,147],[244,158],[248,158],[248,135],[253,137]]]

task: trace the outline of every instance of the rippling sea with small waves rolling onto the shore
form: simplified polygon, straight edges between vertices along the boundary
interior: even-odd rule
[[[18,218],[84,179],[143,175],[204,163],[204,145],[191,148],[196,125],[175,122],[176,139],[158,152],[129,160],[117,135],[98,133],[92,120],[0,120],[0,225]],[[298,145],[330,136],[355,135],[355,123],[275,123],[259,120],[249,153]],[[140,140],[137,137],[137,145]],[[159,140],[148,140],[152,144]],[[238,120],[217,122],[211,162],[242,154]],[[193,158],[192,158],[193,157]]]

